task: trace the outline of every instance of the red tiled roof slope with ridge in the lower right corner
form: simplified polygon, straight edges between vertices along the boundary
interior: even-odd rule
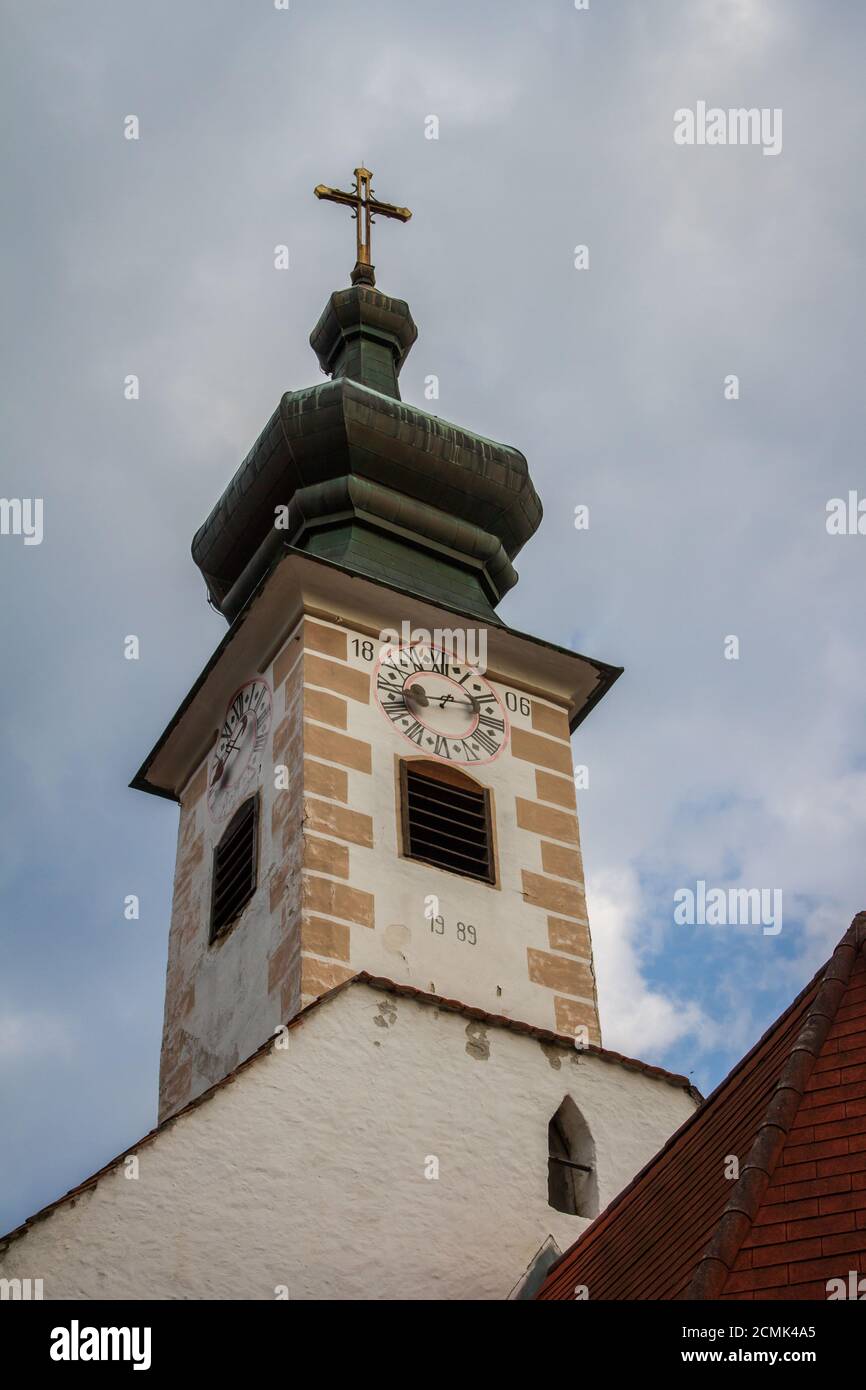
[[[866,1273],[866,912],[538,1298],[826,1298],[852,1269]]]

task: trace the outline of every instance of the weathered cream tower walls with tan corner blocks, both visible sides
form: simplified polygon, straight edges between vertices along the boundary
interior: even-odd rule
[[[270,664],[259,887],[213,944],[213,851],[224,827],[209,816],[207,762],[182,794],[161,1118],[359,970],[560,1033],[585,1026],[601,1040],[564,713],[532,698],[528,713],[509,714],[502,756],[468,769],[493,796],[495,887],[402,858],[398,763],[417,749],[373,698],[374,660],[363,652],[374,645],[306,619]],[[492,684],[505,701],[507,685]],[[285,790],[274,788],[277,766],[288,769]],[[424,915],[430,897],[441,934]]]

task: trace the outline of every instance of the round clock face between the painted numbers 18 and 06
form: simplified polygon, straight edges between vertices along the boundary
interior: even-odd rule
[[[441,762],[492,763],[507,744],[507,716],[484,676],[424,642],[385,648],[375,695],[398,733]]]

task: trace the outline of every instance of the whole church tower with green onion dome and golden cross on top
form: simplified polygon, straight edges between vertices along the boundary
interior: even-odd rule
[[[366,972],[599,1042],[570,734],[617,667],[496,614],[524,456],[400,399],[417,329],[352,286],[193,539],[229,627],[132,785],[179,802],[160,1120]]]

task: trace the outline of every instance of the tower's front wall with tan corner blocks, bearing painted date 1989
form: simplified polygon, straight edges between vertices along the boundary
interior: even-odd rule
[[[304,828],[341,837],[348,851],[342,866],[322,859],[321,874],[307,860],[304,905],[309,915],[345,920],[350,940],[348,956],[304,941],[320,958],[343,962],[306,959],[304,1001],[364,969],[562,1033],[587,1024],[599,1041],[564,713],[532,699],[528,714],[509,716],[503,755],[467,769],[493,795],[496,887],[400,858],[398,760],[417,749],[371,698],[373,663],[356,637],[321,620],[304,624],[304,644],[316,648],[304,655],[307,767],[332,764],[346,799],[314,795],[307,781]],[[278,678],[279,660],[277,688]],[[492,684],[503,698],[506,685]],[[431,895],[445,917],[442,935],[424,916]],[[475,945],[460,940],[459,923],[475,927]]]

